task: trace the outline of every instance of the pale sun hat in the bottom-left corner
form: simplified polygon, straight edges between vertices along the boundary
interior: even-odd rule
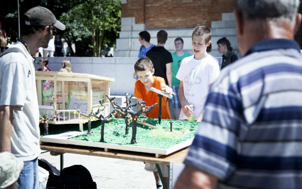
[[[0,188],[17,189],[23,161],[9,152],[0,153]]]

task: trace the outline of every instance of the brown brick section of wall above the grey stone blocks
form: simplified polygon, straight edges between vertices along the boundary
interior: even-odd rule
[[[135,17],[136,24],[145,24],[146,29],[211,27],[235,4],[236,0],[127,0],[122,17]]]

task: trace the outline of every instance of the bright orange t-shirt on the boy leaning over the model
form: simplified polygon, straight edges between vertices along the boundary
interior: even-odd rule
[[[165,83],[165,80],[161,77],[156,77],[156,76],[153,76],[153,78],[154,81],[152,86],[154,88],[161,90],[160,84]],[[135,82],[134,96],[138,99],[143,99],[143,101],[146,102],[146,106],[152,106],[153,104],[157,103],[157,105],[151,111],[146,113],[146,116],[148,118],[158,118],[158,108],[159,108],[158,93],[153,92],[151,90],[147,92],[145,89],[145,85],[140,80],[137,80]],[[161,98],[161,118],[169,119],[169,120],[172,119],[169,111],[167,98],[164,96]]]

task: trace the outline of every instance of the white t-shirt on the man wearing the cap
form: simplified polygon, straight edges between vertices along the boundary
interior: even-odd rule
[[[37,158],[40,153],[39,105],[35,85],[33,58],[20,42],[0,57],[0,105],[13,105],[11,152],[22,161]]]

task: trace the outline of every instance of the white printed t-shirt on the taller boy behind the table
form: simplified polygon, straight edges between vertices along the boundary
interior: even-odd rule
[[[176,78],[183,82],[184,97],[189,104],[193,104],[195,119],[203,110],[210,83],[218,78],[219,73],[218,63],[209,54],[201,60],[194,59],[194,55],[182,60]],[[188,118],[181,111],[179,119]]]

